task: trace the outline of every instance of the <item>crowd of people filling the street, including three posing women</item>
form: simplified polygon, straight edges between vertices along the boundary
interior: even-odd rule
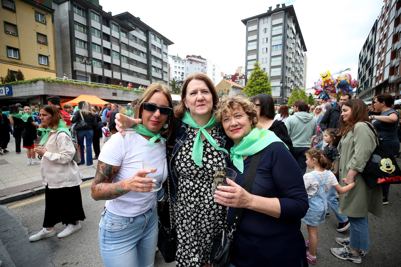
[[[139,118],[125,118],[130,125],[138,124],[137,131],[128,134],[123,132],[124,115],[117,104],[99,108],[82,101],[76,107],[65,104],[61,108],[58,96],[48,96],[47,101],[39,110],[41,121],[35,122],[35,107],[20,110],[11,105],[2,107],[1,114],[1,154],[7,153],[12,130],[16,146],[22,136],[28,165],[37,164],[35,153],[43,157],[45,219],[43,229],[29,240],[55,235],[54,225],[59,222],[67,227],[58,237],[81,228],[79,221],[85,214],[77,165],[92,165],[93,159],[98,159],[91,194],[95,200],[106,200],[99,223],[105,266],[121,262],[154,265],[156,199],[163,194],[168,195],[165,205],[170,205],[171,227],[177,235],[176,266],[210,266],[213,237],[230,228],[234,242],[227,266],[316,264],[317,226],[330,216],[329,207],[338,220],[336,230],[350,229],[350,237],[333,237],[342,247],[331,248],[331,253],[361,263],[370,245],[368,212],[381,217],[389,193],[388,185],[371,189],[362,177],[378,143],[368,124],[375,126],[393,155],[400,149],[401,110],[393,106],[390,94],[376,96],[371,107],[350,94],[343,94],[334,106],[310,106],[304,100],[296,100],[290,107],[275,106],[269,94],[219,99],[210,78],[194,74],[184,81],[181,101],[175,105],[162,82],[144,89],[142,97],[132,102],[139,106]],[[83,122],[84,128],[77,127]],[[42,134],[43,149],[33,147],[36,128]],[[61,132],[65,134],[59,135]],[[81,150],[78,164],[72,160],[74,136]],[[101,136],[105,144],[100,150]],[[339,152],[336,177],[330,170]],[[164,162],[164,167],[159,167],[164,168],[160,191],[152,178],[157,169],[146,168],[150,162],[144,163],[148,156],[161,157]],[[253,186],[245,190],[253,158],[258,159]],[[61,166],[67,166],[63,168],[68,173],[62,172]],[[232,169],[236,178],[227,178],[228,185],[219,185],[212,192],[216,167]],[[52,168],[59,170],[59,175],[49,175]],[[75,199],[71,212],[55,212],[55,203],[67,195]],[[235,223],[238,209],[243,209],[239,225]],[[307,225],[307,241],[300,231],[301,221]]]

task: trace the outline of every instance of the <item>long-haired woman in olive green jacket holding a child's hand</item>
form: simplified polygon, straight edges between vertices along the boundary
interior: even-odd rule
[[[342,247],[331,248],[331,253],[344,260],[361,263],[361,254],[369,250],[368,212],[381,218],[383,212],[381,187],[372,189],[362,178],[362,172],[376,149],[378,140],[369,128],[368,112],[365,102],[352,98],[341,107],[338,145],[340,158],[340,185],[349,185],[353,181],[355,187],[340,195],[338,213],[347,216],[350,221],[350,237],[336,237]],[[345,180],[343,180],[345,178]],[[361,251],[365,251],[362,252]]]

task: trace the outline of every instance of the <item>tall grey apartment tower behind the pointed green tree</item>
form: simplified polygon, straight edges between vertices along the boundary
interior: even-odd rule
[[[292,89],[303,88],[306,80],[304,53],[306,46],[294,7],[277,4],[266,13],[241,20],[246,26],[245,74],[247,79],[253,64],[270,76],[275,104],[288,101]],[[283,86],[280,86],[280,83]]]

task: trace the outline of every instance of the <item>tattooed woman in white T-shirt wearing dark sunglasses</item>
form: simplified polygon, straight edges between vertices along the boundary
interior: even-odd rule
[[[158,241],[156,180],[144,178],[156,169],[143,169],[148,156],[166,158],[166,139],[174,116],[170,90],[153,83],[140,100],[135,133],[116,133],[103,146],[92,183],[92,197],[107,200],[99,228],[100,253],[105,266],[154,265]],[[137,120],[136,122],[140,122]],[[165,126],[165,128],[162,128]],[[167,164],[163,180],[167,178]]]

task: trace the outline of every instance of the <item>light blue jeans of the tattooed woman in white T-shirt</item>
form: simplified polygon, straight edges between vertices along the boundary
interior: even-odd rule
[[[99,246],[106,267],[152,267],[158,239],[156,203],[136,217],[105,210],[99,223]]]

